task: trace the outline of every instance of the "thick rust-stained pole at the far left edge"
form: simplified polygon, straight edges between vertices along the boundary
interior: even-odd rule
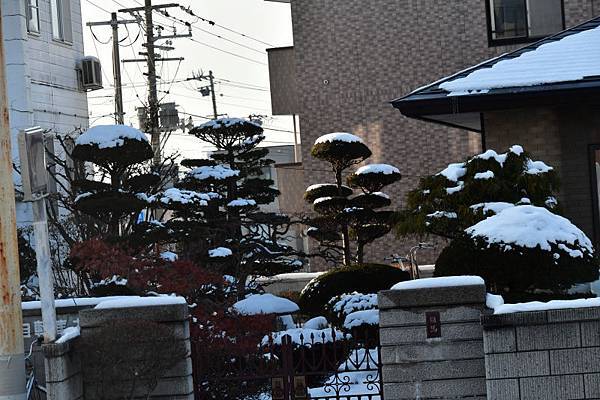
[[[0,19],[0,400],[24,400],[23,318],[7,97]]]

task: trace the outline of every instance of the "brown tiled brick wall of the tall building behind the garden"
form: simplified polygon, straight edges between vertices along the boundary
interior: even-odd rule
[[[369,162],[400,168],[403,180],[388,189],[396,207],[419,177],[480,150],[478,134],[405,118],[389,101],[510,50],[488,47],[484,0],[291,0],[291,9],[305,187],[332,180],[309,154],[329,132],[361,136]],[[592,12],[592,0],[565,0],[567,26]],[[415,242],[386,238],[366,258],[381,262]]]

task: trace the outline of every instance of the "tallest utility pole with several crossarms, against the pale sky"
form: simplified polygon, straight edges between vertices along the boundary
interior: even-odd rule
[[[160,77],[156,75],[156,61],[183,61],[183,58],[162,58],[156,55],[155,49],[163,49],[163,50],[172,50],[172,47],[167,46],[159,46],[156,44],[156,41],[163,39],[177,39],[182,37],[191,37],[192,36],[192,27],[188,26],[188,33],[183,35],[178,35],[174,33],[173,35],[154,35],[154,20],[152,17],[152,12],[155,10],[160,10],[163,8],[172,8],[179,7],[179,4],[160,4],[153,6],[152,0],[145,0],[143,7],[134,7],[134,8],[124,8],[119,10],[119,12],[126,13],[136,13],[136,12],[144,12],[144,19],[146,23],[146,43],[144,43],[144,47],[146,48],[146,52],[139,53],[140,55],[146,56],[145,59],[133,59],[133,60],[123,60],[123,62],[145,62],[148,68],[148,72],[145,73],[148,77],[148,126],[145,127],[145,130],[150,133],[150,143],[152,145],[152,149],[154,150],[154,158],[153,162],[155,166],[160,165],[161,154],[160,154],[160,120],[158,115],[158,110],[160,104],[158,103],[158,90],[156,88],[156,81]]]

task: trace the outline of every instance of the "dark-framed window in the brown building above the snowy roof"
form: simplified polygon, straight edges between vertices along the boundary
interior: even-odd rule
[[[490,45],[522,43],[564,29],[563,0],[487,0]]]

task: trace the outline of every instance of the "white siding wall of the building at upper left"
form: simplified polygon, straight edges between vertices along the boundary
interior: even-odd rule
[[[19,165],[17,134],[41,126],[58,135],[88,127],[87,96],[79,90],[77,63],[84,56],[80,0],[71,1],[72,43],[52,35],[50,0],[39,1],[39,34],[27,32],[25,1],[2,1],[2,28],[12,136],[12,156]],[[13,174],[20,186],[20,176]],[[31,220],[27,204],[17,203],[17,220]]]

